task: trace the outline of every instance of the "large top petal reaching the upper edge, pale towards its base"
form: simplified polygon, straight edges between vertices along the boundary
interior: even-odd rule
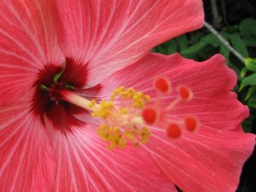
[[[156,44],[200,27],[200,0],[57,0],[64,55],[88,66],[87,87]],[[184,25],[184,23],[186,25]]]

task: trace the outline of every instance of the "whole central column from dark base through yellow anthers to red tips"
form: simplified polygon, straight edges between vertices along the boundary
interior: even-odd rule
[[[44,86],[41,87],[44,90]],[[102,119],[97,133],[103,141],[109,143],[109,149],[125,148],[128,143],[135,147],[147,143],[151,133],[146,125],[166,130],[167,137],[171,139],[182,137],[183,131],[195,132],[198,129],[199,122],[192,115],[182,119],[170,118],[170,112],[180,102],[189,102],[192,99],[193,93],[188,86],[178,86],[177,96],[167,97],[171,83],[168,79],[159,77],[154,79],[154,89],[157,91],[157,99],[150,105],[148,95],[124,86],[113,90],[109,100],[102,100],[100,103],[78,96],[72,90],[56,87],[47,91],[51,95],[57,94],[63,101],[90,111],[93,117]],[[170,98],[173,98],[172,102],[166,103]],[[166,100],[165,105],[163,100]]]

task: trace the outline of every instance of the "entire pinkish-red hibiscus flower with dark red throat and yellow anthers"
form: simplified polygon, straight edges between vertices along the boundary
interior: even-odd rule
[[[0,191],[234,191],[254,146],[235,73],[221,55],[148,54],[202,20],[197,0],[1,1]],[[109,149],[99,112],[103,100],[126,107],[111,97],[122,86],[145,113],[132,124],[146,126]],[[188,117],[197,131],[179,127]]]

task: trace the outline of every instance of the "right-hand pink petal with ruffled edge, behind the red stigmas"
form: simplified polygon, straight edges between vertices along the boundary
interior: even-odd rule
[[[196,62],[180,55],[149,54],[103,80],[99,97],[108,98],[111,90],[124,85],[147,93],[155,102],[152,82],[157,76],[172,81],[172,94],[166,96],[164,105],[177,96],[177,85],[189,86],[194,93],[192,101],[178,104],[168,117],[193,114],[200,128],[176,141],[166,137],[164,128],[152,127],[152,137],[143,148],[161,172],[184,191],[235,191],[241,167],[255,145],[254,135],[237,131],[248,109],[230,91],[236,74],[225,66],[221,55]]]

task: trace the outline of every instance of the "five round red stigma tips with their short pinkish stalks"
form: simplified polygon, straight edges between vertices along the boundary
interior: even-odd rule
[[[195,117],[189,116],[183,119],[167,118],[170,113],[180,102],[189,102],[193,98],[192,90],[186,85],[177,86],[177,97],[169,104],[163,106],[161,102],[165,100],[167,93],[170,93],[171,83],[164,77],[154,79],[154,89],[157,90],[158,96],[154,107],[143,108],[142,117],[146,124],[160,127],[166,127],[166,134],[170,138],[182,137],[183,131],[195,132],[199,123]],[[170,99],[168,98],[168,101]]]

